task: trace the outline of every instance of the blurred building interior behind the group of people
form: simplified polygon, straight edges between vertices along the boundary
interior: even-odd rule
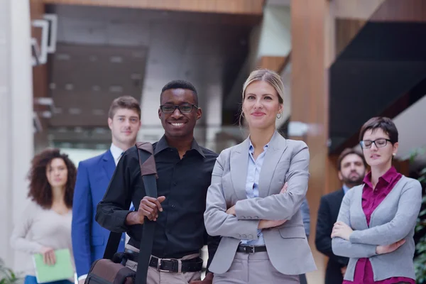
[[[111,145],[112,100],[141,102],[138,141],[163,135],[160,90],[192,82],[203,117],[195,138],[219,153],[246,138],[242,84],[257,67],[285,82],[277,127],[310,147],[310,245],[320,197],[337,190],[336,160],[358,148],[373,116],[400,132],[395,166],[426,165],[426,5],[422,0],[0,0],[0,258],[26,199],[31,158],[58,147],[77,165]],[[31,52],[30,52],[31,50]],[[413,155],[417,153],[417,155]],[[411,159],[410,159],[411,157]]]

